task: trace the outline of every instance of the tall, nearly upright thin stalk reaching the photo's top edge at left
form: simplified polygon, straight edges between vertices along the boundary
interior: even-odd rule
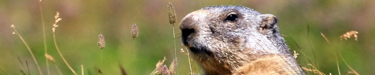
[[[42,9],[41,9],[40,2],[41,1],[38,2],[38,5],[39,5],[41,25],[42,25],[42,28],[43,28],[42,30],[43,30],[44,53],[47,54],[47,44],[46,44],[46,39],[45,39],[45,28],[44,28],[44,15],[43,15],[43,12],[42,12]],[[48,63],[48,59],[47,58],[45,58],[45,65],[47,66],[48,75],[50,75],[51,72],[49,71],[49,63]]]

